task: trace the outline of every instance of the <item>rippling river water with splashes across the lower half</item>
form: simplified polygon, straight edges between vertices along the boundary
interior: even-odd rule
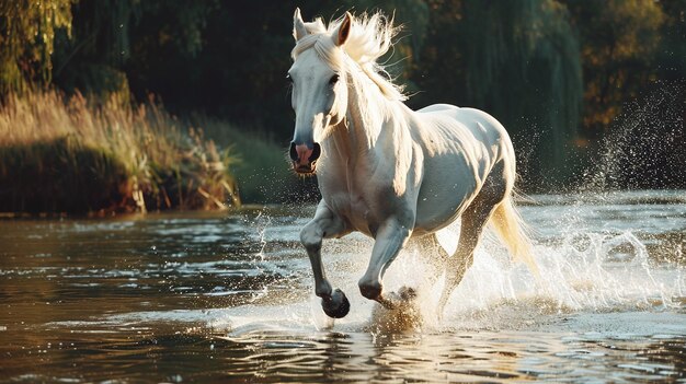
[[[418,251],[356,288],[371,243],[325,243],[332,322],[298,231],[312,207],[0,221],[2,382],[686,382],[686,193],[535,196],[536,279],[487,234],[443,321]],[[453,247],[456,231],[442,233]]]

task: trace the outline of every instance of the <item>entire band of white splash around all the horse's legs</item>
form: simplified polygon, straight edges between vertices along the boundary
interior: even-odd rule
[[[274,298],[279,292],[268,291],[265,295],[273,296],[272,305],[231,309],[227,317],[215,319],[214,326],[224,326],[237,335],[261,326],[285,326],[289,331],[327,329],[373,334],[531,329],[578,313],[660,312],[683,307],[684,265],[655,263],[637,230],[603,228],[601,220],[595,228],[588,228],[584,220],[593,221],[588,219],[590,212],[602,211],[602,207],[572,203],[565,209],[569,213],[561,216],[562,219],[548,221],[554,228],[554,235],[542,235],[535,246],[542,278],[536,279],[524,265],[512,264],[506,249],[493,234],[487,233],[476,252],[473,266],[454,291],[442,321],[438,321],[436,304],[444,282],[442,277],[436,280],[432,276],[433,255],[425,255],[421,249],[408,249],[399,255],[386,274],[385,289],[398,291],[412,287],[419,298],[401,313],[384,311],[362,298],[356,284],[368,263],[373,242],[352,235],[324,242],[322,249],[332,283],[342,288],[351,301],[347,317],[334,322],[323,315],[319,299],[311,293],[311,276],[305,263],[297,288],[304,290],[299,301],[289,298],[279,305],[278,298]],[[541,212],[559,216],[546,208],[533,210],[535,216]],[[449,253],[457,245],[458,233],[459,225],[439,233],[438,240]]]

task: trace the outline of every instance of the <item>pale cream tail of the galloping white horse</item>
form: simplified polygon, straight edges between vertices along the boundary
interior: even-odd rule
[[[515,261],[523,261],[529,270],[538,276],[538,267],[531,253],[531,241],[528,235],[528,228],[522,216],[514,206],[513,197],[507,196],[493,212],[491,218],[493,228],[503,240],[512,258]]]

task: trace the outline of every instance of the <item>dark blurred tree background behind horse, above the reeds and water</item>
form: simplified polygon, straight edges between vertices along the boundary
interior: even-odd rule
[[[378,9],[403,25],[387,62],[412,94],[409,105],[451,103],[494,115],[513,136],[526,190],[590,181],[603,188],[686,187],[686,0],[1,0],[0,7],[3,95],[58,88],[130,103],[155,94],[175,115],[243,127],[237,139],[214,124],[224,147],[276,144],[243,150],[248,164],[274,158],[263,152],[285,149],[291,136],[285,73],[295,8],[325,21],[348,9]]]

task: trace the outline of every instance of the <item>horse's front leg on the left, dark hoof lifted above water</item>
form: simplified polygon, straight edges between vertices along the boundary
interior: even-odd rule
[[[340,289],[332,290],[327,279],[327,274],[321,264],[322,238],[336,237],[346,234],[345,223],[334,214],[327,205],[321,201],[317,207],[315,218],[300,231],[300,242],[307,251],[315,275],[315,293],[321,298],[321,306],[324,313],[334,318],[347,315],[351,304]]]

